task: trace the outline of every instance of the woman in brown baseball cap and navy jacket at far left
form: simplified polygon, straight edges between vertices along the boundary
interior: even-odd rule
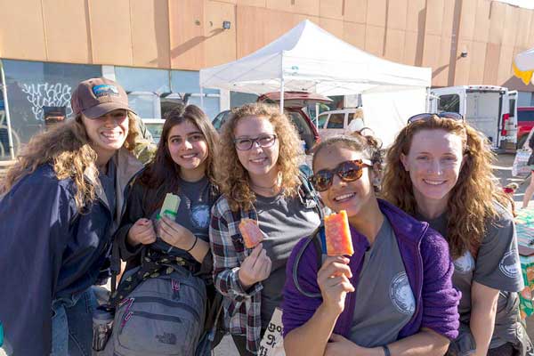
[[[71,106],[76,117],[36,135],[0,189],[0,320],[18,355],[91,354],[91,287],[142,168],[120,85],[88,79]]]

